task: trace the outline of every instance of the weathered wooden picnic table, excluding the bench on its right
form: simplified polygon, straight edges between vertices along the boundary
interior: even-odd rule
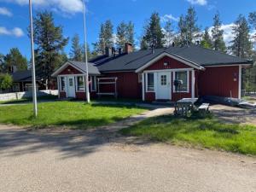
[[[183,98],[178,100],[175,105],[175,114],[188,115],[189,111],[193,111],[195,108],[195,102],[198,98]]]

